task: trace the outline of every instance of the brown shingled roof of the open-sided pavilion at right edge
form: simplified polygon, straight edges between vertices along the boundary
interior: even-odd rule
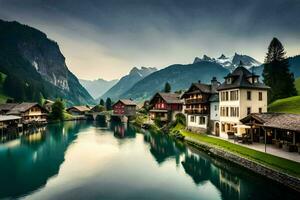
[[[288,113],[252,113],[241,119],[242,123],[247,123],[251,119],[257,120],[264,127],[286,129],[300,132],[300,115]]]

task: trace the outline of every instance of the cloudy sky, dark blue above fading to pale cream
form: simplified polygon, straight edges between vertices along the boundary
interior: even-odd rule
[[[0,18],[45,32],[88,80],[204,54],[263,62],[273,37],[288,56],[300,54],[300,0],[0,0]]]

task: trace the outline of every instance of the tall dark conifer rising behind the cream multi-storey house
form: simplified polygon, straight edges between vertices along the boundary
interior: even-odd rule
[[[297,95],[294,74],[289,70],[284,47],[277,38],[273,38],[265,58],[263,70],[264,83],[271,87],[269,101]]]

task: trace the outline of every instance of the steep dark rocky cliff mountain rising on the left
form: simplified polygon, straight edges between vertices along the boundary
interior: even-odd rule
[[[67,104],[94,100],[69,71],[59,46],[45,33],[0,20],[0,72],[3,93],[17,101],[63,98]]]

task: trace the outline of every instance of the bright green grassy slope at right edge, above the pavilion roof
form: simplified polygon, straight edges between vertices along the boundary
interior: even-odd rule
[[[300,114],[300,96],[278,99],[269,106],[270,112]]]

